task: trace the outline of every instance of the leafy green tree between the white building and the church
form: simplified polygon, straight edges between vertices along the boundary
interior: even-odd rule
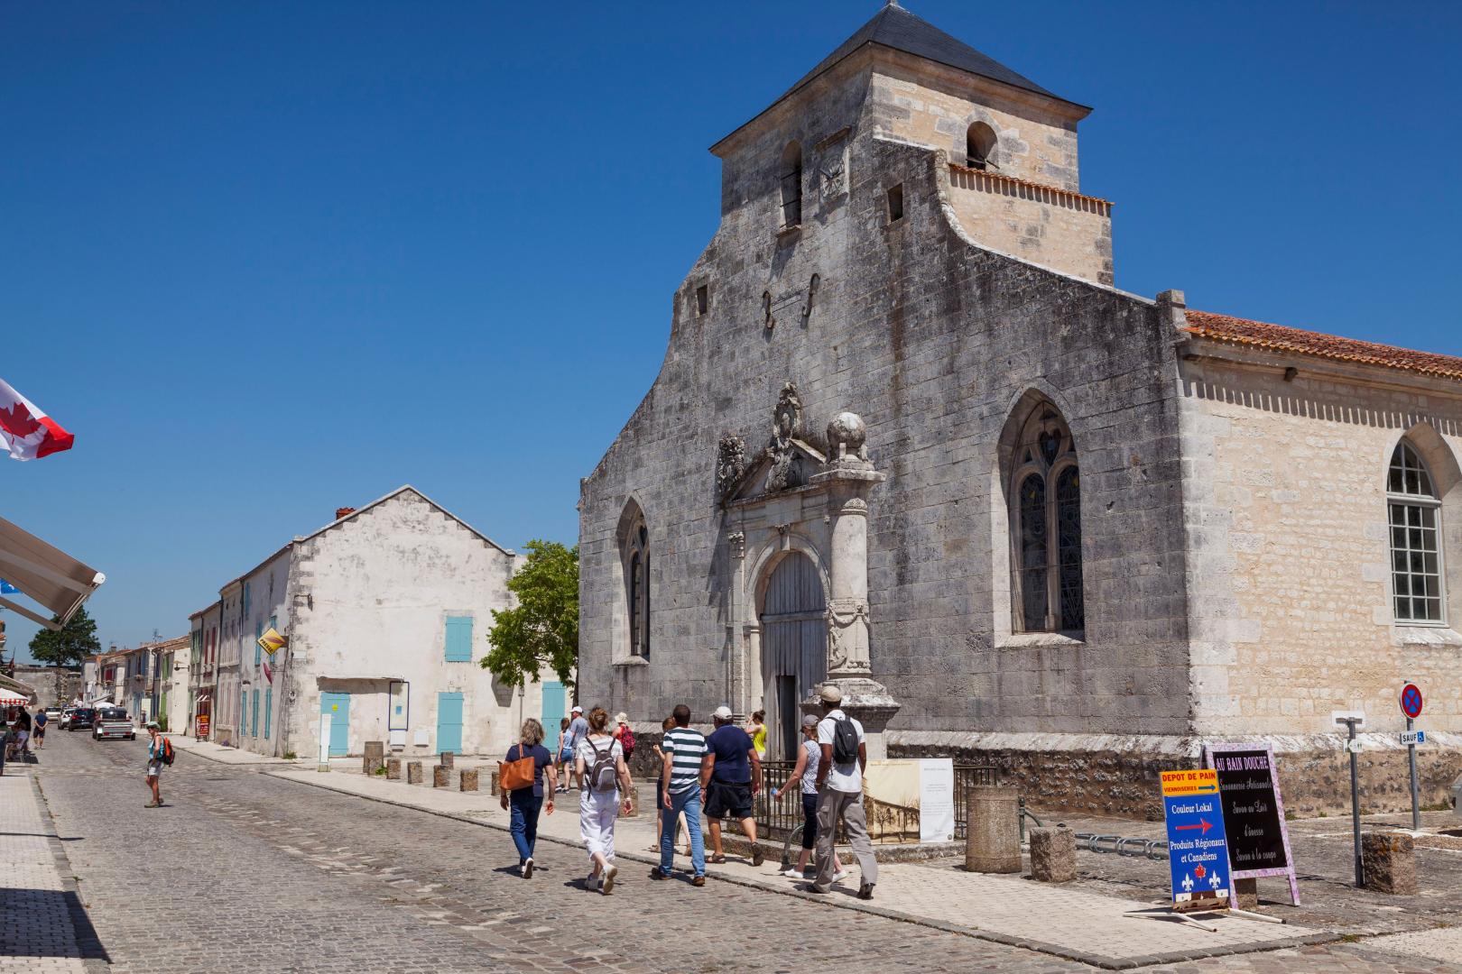
[[[579,663],[579,546],[528,542],[528,559],[507,581],[518,597],[512,609],[493,612],[491,647],[482,669],[507,686],[523,686],[548,666],[564,686]]]

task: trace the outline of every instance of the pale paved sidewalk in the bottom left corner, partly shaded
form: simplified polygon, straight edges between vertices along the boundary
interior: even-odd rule
[[[32,765],[34,767],[34,765]],[[75,883],[63,879],[60,843],[41,812],[41,796],[19,762],[0,775],[0,973],[83,974]],[[69,888],[67,888],[69,886]]]

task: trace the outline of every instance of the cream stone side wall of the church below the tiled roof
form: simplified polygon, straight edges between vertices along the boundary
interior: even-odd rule
[[[1420,726],[1462,732],[1462,635],[1398,625],[1386,470],[1408,435],[1446,494],[1450,618],[1462,618],[1462,399],[1455,383],[1194,343],[1183,362],[1199,733],[1404,730],[1401,688],[1427,695]]]

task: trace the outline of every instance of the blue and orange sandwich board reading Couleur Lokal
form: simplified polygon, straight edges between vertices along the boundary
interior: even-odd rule
[[[1162,815],[1168,825],[1173,908],[1227,910],[1228,843],[1219,809],[1218,772],[1162,772]]]

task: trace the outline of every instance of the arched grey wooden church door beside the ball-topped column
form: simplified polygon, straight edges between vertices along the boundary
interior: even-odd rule
[[[827,597],[817,565],[792,551],[772,568],[762,599],[766,755],[797,753],[800,704],[827,678]]]

